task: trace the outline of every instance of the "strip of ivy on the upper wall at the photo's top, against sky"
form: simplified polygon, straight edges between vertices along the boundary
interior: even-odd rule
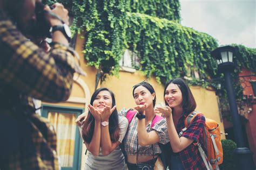
[[[178,0],[127,1],[129,12],[145,13],[152,17],[180,22],[180,3]]]

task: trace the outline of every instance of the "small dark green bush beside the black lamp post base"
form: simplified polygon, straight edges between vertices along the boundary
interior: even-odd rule
[[[223,147],[223,163],[220,165],[220,169],[233,170],[235,169],[233,152],[237,148],[237,144],[233,140],[223,139],[221,140]]]

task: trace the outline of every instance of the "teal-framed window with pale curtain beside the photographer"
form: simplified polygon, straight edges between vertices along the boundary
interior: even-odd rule
[[[80,169],[82,139],[75,121],[83,111],[82,108],[42,104],[42,116],[49,119],[57,134],[57,153],[62,170]]]

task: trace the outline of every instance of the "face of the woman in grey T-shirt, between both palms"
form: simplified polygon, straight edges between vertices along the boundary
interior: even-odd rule
[[[105,106],[112,108],[112,97],[109,91],[103,90],[95,97],[92,106],[98,111],[103,111]]]

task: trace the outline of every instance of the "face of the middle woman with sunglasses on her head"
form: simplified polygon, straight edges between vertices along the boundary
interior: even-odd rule
[[[154,97],[156,96],[155,93],[150,93],[150,91],[145,88],[144,86],[139,86],[136,89],[134,89],[133,97],[135,100],[135,103],[137,105],[139,104],[147,104],[147,107],[150,105],[153,105]]]

